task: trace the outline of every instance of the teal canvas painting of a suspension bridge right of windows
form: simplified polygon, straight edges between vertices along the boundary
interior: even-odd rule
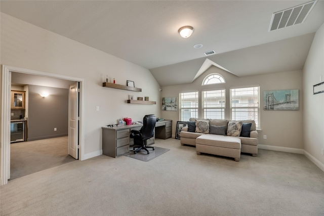
[[[297,90],[263,91],[264,110],[299,110]]]

